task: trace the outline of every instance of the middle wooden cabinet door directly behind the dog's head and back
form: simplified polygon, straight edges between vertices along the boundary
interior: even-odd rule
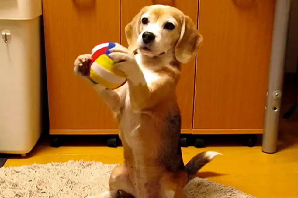
[[[122,0],[121,1],[121,43],[127,46],[125,37],[125,26],[133,17],[146,5],[163,4],[174,6],[185,15],[189,15],[193,22],[197,23],[198,18],[198,0]],[[195,76],[195,59],[188,64],[182,65],[182,75],[177,87],[178,104],[182,116],[182,133],[191,133],[192,129],[192,109],[194,98],[194,76]]]

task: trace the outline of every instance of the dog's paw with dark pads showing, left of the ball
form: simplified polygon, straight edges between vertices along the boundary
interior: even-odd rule
[[[74,71],[79,76],[89,76],[90,73],[91,54],[82,54],[75,60]]]

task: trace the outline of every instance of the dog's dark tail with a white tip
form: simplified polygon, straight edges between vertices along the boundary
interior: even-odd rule
[[[196,173],[199,171],[199,169],[201,169],[217,155],[222,154],[215,151],[205,151],[194,156],[185,166],[189,179],[196,176]]]

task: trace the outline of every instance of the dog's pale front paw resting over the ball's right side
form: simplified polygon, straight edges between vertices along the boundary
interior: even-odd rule
[[[114,67],[120,69],[127,77],[136,69],[137,62],[133,52],[122,45],[116,45],[109,50],[109,57],[114,61]]]

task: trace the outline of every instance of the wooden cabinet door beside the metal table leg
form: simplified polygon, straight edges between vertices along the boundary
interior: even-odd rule
[[[274,7],[272,0],[200,0],[198,133],[262,133]]]

